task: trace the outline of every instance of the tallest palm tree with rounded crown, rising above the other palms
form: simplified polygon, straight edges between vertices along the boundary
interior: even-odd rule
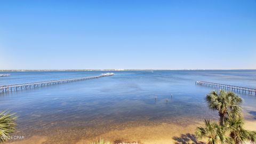
[[[224,125],[225,117],[228,115],[239,115],[243,100],[234,92],[220,90],[219,93],[211,91],[206,96],[206,101],[210,109],[218,110],[220,125]]]

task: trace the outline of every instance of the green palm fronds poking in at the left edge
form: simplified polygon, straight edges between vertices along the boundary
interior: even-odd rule
[[[14,114],[5,111],[0,113],[0,143],[4,143],[10,134],[15,131],[16,118]]]

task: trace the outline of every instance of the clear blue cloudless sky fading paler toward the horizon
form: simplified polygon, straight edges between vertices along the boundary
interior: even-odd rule
[[[0,1],[0,69],[256,69],[256,1]]]

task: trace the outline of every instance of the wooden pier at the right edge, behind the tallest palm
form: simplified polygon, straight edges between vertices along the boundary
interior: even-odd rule
[[[256,95],[256,89],[252,89],[252,88],[249,88],[249,87],[234,86],[234,85],[219,84],[219,83],[211,83],[211,82],[203,82],[203,81],[196,81],[195,84],[211,86],[211,87],[215,87],[215,88],[226,89],[226,90],[248,93],[248,94],[255,93],[255,95]]]

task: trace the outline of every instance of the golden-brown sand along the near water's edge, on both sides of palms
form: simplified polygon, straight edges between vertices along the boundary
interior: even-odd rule
[[[95,139],[103,138],[109,140],[113,143],[119,142],[138,142],[138,143],[205,143],[204,140],[197,140],[195,138],[195,130],[197,126],[203,125],[203,121],[195,121],[191,119],[189,123],[186,119],[181,119],[180,123],[151,123],[147,125],[138,125],[137,122],[125,123],[124,127],[116,127],[114,130],[102,132],[95,137],[76,137],[70,139],[65,138],[64,135],[33,135],[25,140],[12,141],[7,143],[75,143],[82,144]],[[141,124],[141,123],[140,123]],[[133,126],[134,125],[134,126]],[[256,131],[256,121],[245,121],[245,127],[248,130]],[[70,128],[68,128],[70,129]],[[83,133],[84,131],[80,131]],[[74,130],[73,134],[79,133],[79,131]],[[70,133],[71,134],[71,133]],[[89,134],[90,135],[90,134]]]

